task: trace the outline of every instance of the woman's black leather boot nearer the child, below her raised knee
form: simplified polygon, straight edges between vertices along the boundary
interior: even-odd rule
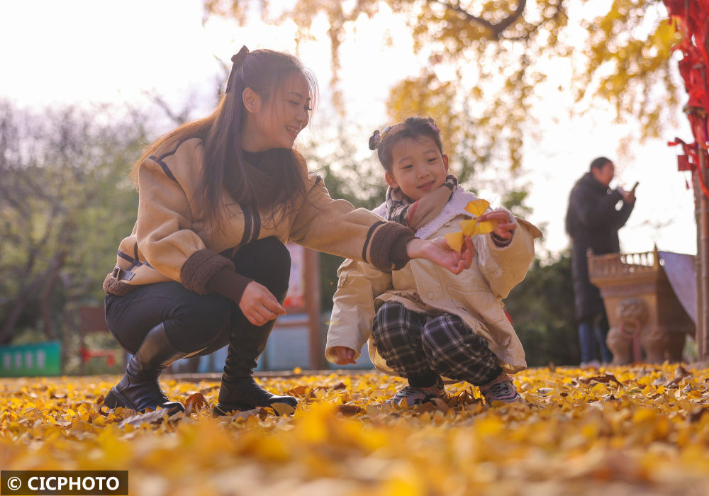
[[[285,293],[274,296],[281,305],[286,298]],[[219,401],[214,407],[213,415],[268,407],[274,403],[286,403],[292,407],[298,405],[296,398],[269,393],[254,380],[256,360],[266,348],[266,342],[275,324],[276,320],[269,320],[259,327],[247,321],[247,325],[238,326],[233,331],[219,388]]]

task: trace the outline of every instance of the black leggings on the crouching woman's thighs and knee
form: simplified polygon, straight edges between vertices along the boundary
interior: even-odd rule
[[[275,237],[240,247],[233,257],[238,274],[252,278],[274,294],[285,293],[291,270],[288,249]],[[106,293],[106,323],[123,348],[138,351],[150,329],[164,323],[179,351],[211,354],[230,342],[230,334],[247,323],[237,303],[217,293],[199,295],[176,281],[138,286],[127,295]]]

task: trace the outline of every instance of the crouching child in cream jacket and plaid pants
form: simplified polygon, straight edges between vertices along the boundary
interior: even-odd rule
[[[431,118],[410,117],[375,131],[369,148],[384,167],[386,202],[373,212],[399,222],[422,239],[459,232],[474,194],[448,174],[440,131]],[[408,379],[390,403],[418,405],[442,398],[442,378],[480,388],[486,402],[521,401],[508,373],[526,368],[522,344],[503,311],[502,299],[523,281],[540,230],[508,210],[478,218],[497,227],[467,237],[471,267],[458,275],[424,260],[379,271],[348,259],[340,269],[325,356],[355,363],[369,339],[376,368]],[[474,247],[474,250],[472,248]]]

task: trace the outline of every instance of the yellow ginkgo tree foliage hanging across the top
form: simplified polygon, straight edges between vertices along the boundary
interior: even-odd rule
[[[204,8],[206,17],[240,23],[255,10],[269,23],[293,21],[296,41],[311,39],[314,21],[327,19],[340,108],[340,48],[355,23],[392,11],[421,64],[391,88],[389,117],[435,115],[449,150],[474,162],[496,156],[518,168],[535,107],[568,117],[610,106],[617,121],[637,123],[640,140],[674,124],[679,108],[671,63],[679,35],[661,0],[205,0]],[[441,77],[442,67],[454,75]],[[559,108],[554,91],[537,91],[552,80],[571,95],[569,108]]]

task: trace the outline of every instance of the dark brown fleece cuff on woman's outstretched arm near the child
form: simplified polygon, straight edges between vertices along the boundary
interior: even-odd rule
[[[410,260],[406,255],[406,243],[415,237],[413,231],[398,222],[381,222],[372,226],[365,244],[366,257],[377,269],[391,271],[401,269]],[[403,242],[403,257],[401,243]],[[396,249],[395,249],[396,247]]]

